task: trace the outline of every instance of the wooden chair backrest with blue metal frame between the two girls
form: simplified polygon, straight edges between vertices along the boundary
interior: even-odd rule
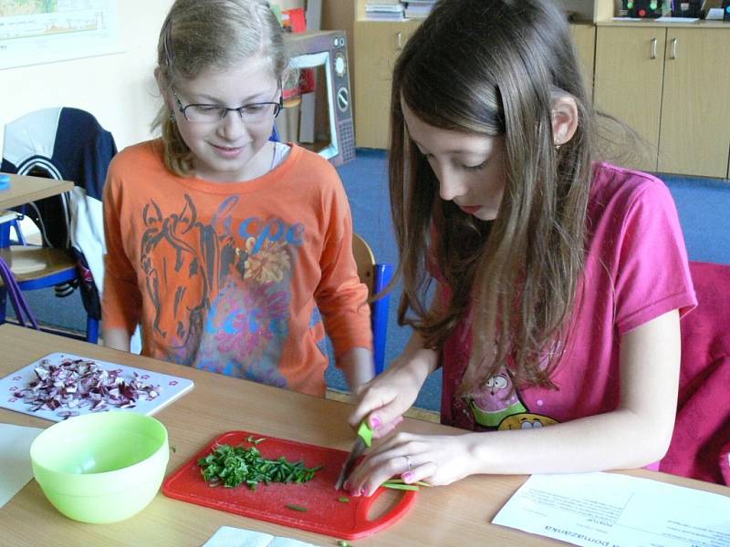
[[[391,282],[393,269],[389,263],[378,263],[370,245],[357,233],[352,234],[352,253],[358,265],[360,281],[368,287],[368,296],[379,294]],[[385,342],[388,337],[388,310],[390,294],[385,294],[370,304],[372,346],[375,374],[385,367]]]

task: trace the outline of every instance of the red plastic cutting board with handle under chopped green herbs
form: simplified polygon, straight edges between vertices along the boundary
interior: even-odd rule
[[[256,490],[250,490],[245,485],[235,488],[208,486],[198,467],[198,459],[210,454],[219,444],[250,447],[252,443],[246,441],[249,436],[253,439],[265,439],[256,445],[264,458],[276,459],[284,456],[289,461],[301,459],[308,468],[323,465],[324,469],[318,470],[314,479],[301,484],[262,483]],[[335,482],[347,457],[348,453],[343,450],[266,437],[250,431],[228,431],[213,439],[172,473],[164,481],[162,492],[170,498],[260,521],[275,522],[344,540],[357,540],[380,532],[400,519],[411,508],[416,492],[402,491],[401,499],[390,511],[373,521],[368,520],[370,507],[384,489],[378,489],[370,498],[350,497],[345,490],[335,490]],[[401,494],[400,491],[398,493]],[[342,497],[349,498],[349,503],[339,501]],[[287,503],[306,507],[307,511],[288,509]]]

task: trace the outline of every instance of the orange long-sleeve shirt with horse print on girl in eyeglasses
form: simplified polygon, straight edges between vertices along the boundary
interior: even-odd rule
[[[105,328],[142,354],[323,395],[327,357],[371,348],[352,221],[327,160],[293,146],[253,181],[181,178],[151,140],[112,160],[104,189]]]

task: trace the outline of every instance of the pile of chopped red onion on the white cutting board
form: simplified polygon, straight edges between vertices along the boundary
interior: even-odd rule
[[[159,397],[162,387],[141,381],[135,372],[130,380],[120,370],[107,370],[89,359],[64,358],[60,364],[43,359],[35,368],[36,378],[16,391],[30,409],[56,411],[60,418],[78,416],[79,408],[92,412],[109,407],[134,408],[141,397]]]

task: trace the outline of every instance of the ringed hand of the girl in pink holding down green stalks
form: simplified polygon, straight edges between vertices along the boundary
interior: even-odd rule
[[[478,435],[478,434],[477,434]],[[423,480],[429,484],[450,484],[472,471],[474,434],[415,435],[397,433],[362,460],[345,483],[353,496],[370,496],[386,480]]]

